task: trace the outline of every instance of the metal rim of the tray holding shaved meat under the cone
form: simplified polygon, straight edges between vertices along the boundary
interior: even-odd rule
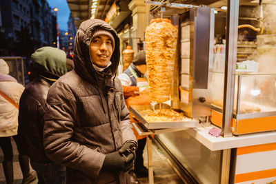
[[[198,120],[192,121],[170,121],[170,122],[148,122],[140,114],[142,110],[152,110],[150,105],[130,105],[130,112],[141,121],[141,123],[148,129],[163,129],[163,128],[186,128],[186,127],[199,127]]]

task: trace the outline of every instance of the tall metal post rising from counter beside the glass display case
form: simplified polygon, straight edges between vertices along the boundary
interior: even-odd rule
[[[226,24],[226,65],[224,74],[224,108],[222,118],[222,134],[232,136],[230,123],[233,117],[233,101],[235,95],[235,72],[237,61],[237,25],[239,21],[239,0],[227,1]]]

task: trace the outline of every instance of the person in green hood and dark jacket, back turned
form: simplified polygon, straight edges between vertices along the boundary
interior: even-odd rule
[[[66,167],[51,161],[43,147],[43,115],[50,86],[67,72],[66,53],[43,47],[32,56],[34,80],[28,83],[19,103],[19,144],[30,156],[39,184],[66,183]]]

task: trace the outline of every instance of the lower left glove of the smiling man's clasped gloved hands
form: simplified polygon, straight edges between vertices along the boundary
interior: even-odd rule
[[[106,154],[106,159],[103,161],[103,170],[110,171],[128,171],[133,166],[135,161],[135,154],[128,154],[128,156],[124,156],[119,154],[119,152],[112,152]]]

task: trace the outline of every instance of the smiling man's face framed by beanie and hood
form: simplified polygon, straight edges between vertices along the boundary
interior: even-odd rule
[[[106,35],[99,35],[90,43],[90,59],[93,64],[105,68],[112,56],[112,41]]]

